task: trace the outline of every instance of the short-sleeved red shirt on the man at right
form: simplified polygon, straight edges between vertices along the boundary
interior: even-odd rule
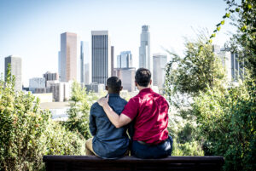
[[[143,88],[125,105],[123,114],[135,119],[133,140],[158,144],[168,138],[168,109],[164,97],[151,88]]]

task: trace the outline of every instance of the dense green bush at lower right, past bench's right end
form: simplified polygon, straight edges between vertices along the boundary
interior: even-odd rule
[[[193,107],[207,151],[224,156],[224,170],[255,170],[255,83],[247,81],[224,92],[209,88],[195,98]]]

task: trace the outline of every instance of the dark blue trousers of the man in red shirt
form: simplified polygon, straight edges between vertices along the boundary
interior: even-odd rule
[[[172,137],[158,145],[142,145],[137,140],[131,141],[131,156],[138,158],[164,158],[172,156]]]

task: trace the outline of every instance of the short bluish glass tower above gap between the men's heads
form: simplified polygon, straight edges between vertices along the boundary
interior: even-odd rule
[[[130,68],[132,67],[131,51],[121,52],[117,56],[117,68]]]

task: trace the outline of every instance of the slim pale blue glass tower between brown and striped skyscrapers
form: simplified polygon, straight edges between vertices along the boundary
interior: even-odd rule
[[[91,83],[91,59],[89,53],[89,43],[84,42],[84,84]]]

